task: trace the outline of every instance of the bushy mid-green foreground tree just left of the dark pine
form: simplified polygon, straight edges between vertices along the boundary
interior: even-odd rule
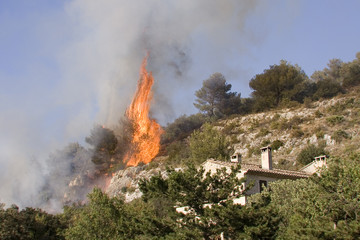
[[[69,228],[66,239],[153,239],[171,232],[171,224],[156,216],[151,205],[141,201],[125,204],[95,188],[89,203],[78,209],[66,208]],[[175,222],[173,223],[175,225]]]

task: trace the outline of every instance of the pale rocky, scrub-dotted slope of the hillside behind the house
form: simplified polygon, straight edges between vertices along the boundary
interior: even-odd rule
[[[232,116],[213,123],[224,133],[243,163],[258,163],[260,147],[273,146],[275,168],[299,169],[298,154],[309,144],[325,146],[330,156],[348,156],[360,149],[360,88],[328,100],[246,116]],[[127,201],[141,196],[138,181],[165,173],[167,156],[152,163],[117,171],[107,192],[125,195]],[[177,167],[182,167],[181,164]]]

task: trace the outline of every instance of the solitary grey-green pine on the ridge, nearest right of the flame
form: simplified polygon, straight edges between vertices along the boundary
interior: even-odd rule
[[[203,81],[203,86],[195,92],[195,107],[209,117],[221,117],[239,112],[240,94],[229,92],[231,84],[221,73],[214,73]]]

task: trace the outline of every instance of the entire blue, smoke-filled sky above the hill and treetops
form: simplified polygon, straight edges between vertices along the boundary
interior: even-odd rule
[[[308,76],[330,59],[352,61],[358,9],[358,0],[0,0],[0,202],[28,203],[51,151],[117,124],[147,53],[152,116],[166,125],[196,112],[194,92],[215,72],[248,97],[251,78],[282,59]]]

